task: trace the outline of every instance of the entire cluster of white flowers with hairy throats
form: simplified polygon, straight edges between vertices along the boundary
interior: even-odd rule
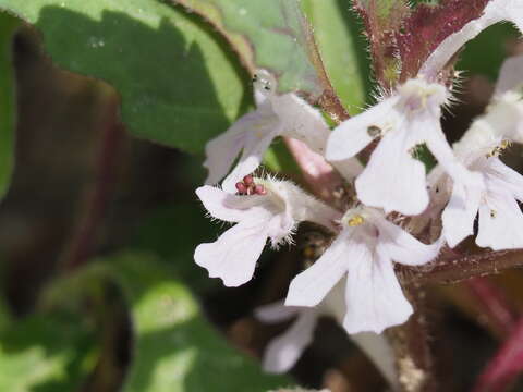
[[[303,221],[320,224],[335,236],[316,262],[290,283],[284,305],[259,311],[266,321],[297,316],[269,345],[268,369],[292,366],[312,340],[318,315],[335,316],[356,342],[362,332],[381,333],[405,322],[413,308],[394,264],[434,260],[445,244],[454,247],[474,234],[476,216],[478,246],[523,247],[518,205],[523,201],[523,177],[499,158],[511,143],[523,143],[523,57],[506,62],[486,113],[460,142],[451,147],[440,125],[442,108],[452,98],[440,81],[441,70],[467,40],[499,21],[522,28],[523,4],[490,1],[479,19],[440,44],[416,77],[333,131],[295,94],[278,95],[272,76],[260,71],[254,78],[257,109],[208,143],[204,164],[209,176],[196,194],[214,218],[235,223],[216,242],[196,248],[196,264],[210,277],[228,286],[250,281],[267,240],[272,247],[292,243]],[[330,207],[289,181],[252,174],[278,136],[300,139],[335,168],[360,168],[339,169],[348,183],[354,181],[355,197],[346,209]],[[422,146],[438,161],[428,175],[417,158]],[[361,166],[357,156],[364,150],[370,156]],[[214,186],[221,180],[221,188]],[[419,232],[412,230],[416,224],[436,220],[442,222],[436,235],[424,242],[413,235]],[[343,293],[342,301],[332,306],[329,298],[340,296],[336,292]],[[378,366],[390,377],[389,365]]]

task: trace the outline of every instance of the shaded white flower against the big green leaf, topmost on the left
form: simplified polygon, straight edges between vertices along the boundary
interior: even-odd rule
[[[223,179],[242,151],[238,164],[223,181],[222,188],[228,192],[234,192],[235,183],[260,164],[277,136],[300,139],[324,154],[330,134],[319,111],[295,94],[277,95],[276,82],[269,73],[259,71],[254,82],[257,109],[240,118],[205,148],[204,167],[209,170],[206,184],[217,184]]]

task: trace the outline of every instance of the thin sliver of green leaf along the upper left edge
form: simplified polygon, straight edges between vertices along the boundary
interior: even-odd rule
[[[0,14],[0,198],[8,192],[14,168],[16,98],[12,41],[19,25],[16,19]]]

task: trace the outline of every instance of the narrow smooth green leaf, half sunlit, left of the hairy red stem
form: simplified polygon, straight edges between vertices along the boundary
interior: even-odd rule
[[[350,114],[361,111],[370,93],[370,64],[361,22],[340,0],[302,0],[327,75]]]

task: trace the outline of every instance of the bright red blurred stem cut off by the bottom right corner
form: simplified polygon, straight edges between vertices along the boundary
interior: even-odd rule
[[[515,324],[485,370],[477,378],[474,392],[507,391],[523,370],[523,318]]]

